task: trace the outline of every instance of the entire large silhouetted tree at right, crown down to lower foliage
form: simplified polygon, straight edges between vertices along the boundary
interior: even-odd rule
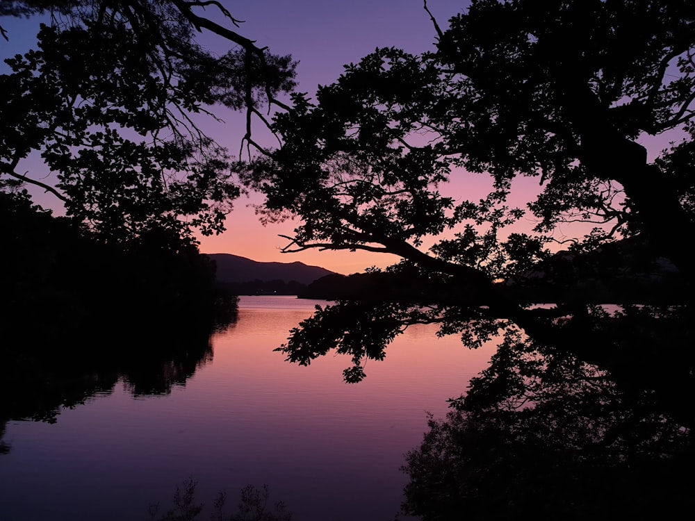
[[[684,240],[695,217],[695,7],[474,0],[445,31],[433,22],[435,52],[377,49],[320,88],[316,101],[295,94],[292,110],[275,118],[281,147],[246,174],[267,197],[265,218],[300,219],[284,251],[402,258],[373,274],[375,284],[398,288],[379,293],[391,298],[326,306],[279,350],[309,364],[335,348],[352,357],[345,379],[359,381],[363,361],[384,358],[409,324],[439,324],[473,348],[498,338],[489,370],[455,400],[458,412],[433,422],[409,456],[405,510],[425,519],[458,519],[475,501],[486,518],[496,487],[519,486],[523,495],[544,472],[551,486],[548,475],[563,468],[571,476],[565,493],[573,479],[584,486],[606,468],[622,483],[635,468],[669,474],[679,458],[692,461],[695,420]],[[639,140],[665,131],[680,132],[679,142],[649,161]],[[462,176],[485,176],[489,194],[447,192]],[[514,208],[507,201],[523,177],[537,179],[540,193]],[[512,228],[525,215],[534,229]],[[573,222],[595,227],[584,238],[553,237]],[[606,308],[560,286],[555,306],[530,306],[532,293],[510,286],[533,288],[539,277],[562,284],[551,277],[562,261],[551,254],[557,242],[566,258],[581,260],[579,283],[589,277],[581,265],[594,279],[653,271],[658,281],[668,260],[685,290],[654,306],[630,305],[655,304],[653,295],[635,303],[618,293]],[[478,454],[482,438],[491,447]],[[520,447],[531,456],[496,474]],[[533,466],[555,456],[566,465]],[[682,505],[685,495],[674,494]],[[557,518],[576,497],[564,499],[540,517]],[[587,512],[605,514],[610,497],[603,500]],[[513,516],[507,502],[491,518]]]

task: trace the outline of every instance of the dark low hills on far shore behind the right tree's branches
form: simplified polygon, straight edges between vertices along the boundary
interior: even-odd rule
[[[323,276],[298,292],[305,299],[461,301],[459,289],[436,279],[422,281],[416,270],[378,271]],[[496,290],[516,303],[685,304],[691,288],[667,258],[639,240],[621,240],[598,251],[561,251],[525,272],[496,281]],[[471,296],[470,304],[488,301]]]

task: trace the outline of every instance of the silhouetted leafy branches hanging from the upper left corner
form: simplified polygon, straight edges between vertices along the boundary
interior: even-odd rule
[[[227,151],[199,126],[222,104],[245,110],[253,144],[262,104],[294,86],[294,63],[256,47],[197,12],[216,1],[14,1],[0,15],[51,11],[38,49],[8,58],[0,76],[6,179],[37,185],[63,201],[69,217],[106,242],[137,240],[152,230],[191,240],[224,228],[238,193]],[[212,31],[234,48],[215,56],[195,42]],[[3,36],[9,33],[2,30]],[[58,182],[19,168],[40,154]]]

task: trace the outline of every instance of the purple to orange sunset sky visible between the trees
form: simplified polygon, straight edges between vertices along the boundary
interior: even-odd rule
[[[274,53],[289,53],[299,60],[299,90],[310,94],[316,91],[317,85],[332,83],[343,71],[344,64],[357,62],[376,47],[399,47],[412,53],[434,48],[434,28],[423,9],[422,0],[223,0],[222,3],[234,17],[245,20],[237,29],[239,33],[256,40],[261,47],[268,46]],[[445,28],[449,17],[461,13],[468,0],[429,0],[427,4],[440,26]],[[221,21],[214,8],[208,8],[207,14]],[[37,20],[1,19],[1,24],[9,30],[10,36],[9,43],[0,41],[4,56],[24,51],[35,41]],[[228,48],[226,40],[210,33],[202,34],[199,41],[220,53]],[[238,154],[243,135],[243,117],[231,112],[219,114],[224,124],[209,122],[206,130],[220,144]],[[256,126],[259,127],[260,124]],[[669,136],[665,136],[646,142],[651,155],[666,147],[669,140]],[[461,176],[445,190],[459,200],[475,199],[484,195],[488,185],[489,182],[483,177],[471,180],[469,176],[466,179]],[[514,189],[512,204],[523,206],[538,192],[539,187],[536,180],[523,179],[518,181]],[[43,197],[38,199],[44,203]],[[45,201],[45,204],[49,204],[47,199]],[[256,261],[301,261],[345,274],[361,271],[371,265],[384,267],[398,260],[383,254],[347,251],[281,254],[279,249],[287,241],[278,235],[290,234],[293,224],[260,224],[252,208],[260,201],[258,196],[238,199],[234,212],[229,215],[228,230],[222,235],[201,238],[201,250],[205,253],[237,254]],[[532,221],[525,220],[521,226],[529,229]],[[564,231],[560,230],[559,233]]]

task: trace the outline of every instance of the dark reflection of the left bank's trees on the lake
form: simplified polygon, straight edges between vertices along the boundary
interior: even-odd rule
[[[0,363],[0,454],[10,452],[2,441],[10,420],[55,423],[61,410],[110,395],[118,381],[133,397],[167,395],[185,386],[212,361],[213,333],[234,320],[235,314],[226,313],[205,325],[160,323],[149,331],[122,326],[91,342],[75,338],[72,349],[64,339],[6,345]]]

